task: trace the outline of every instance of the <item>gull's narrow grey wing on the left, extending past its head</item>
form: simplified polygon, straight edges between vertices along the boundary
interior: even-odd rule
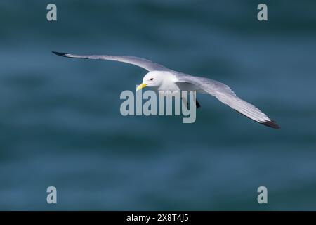
[[[79,56],[79,55],[72,55],[68,53],[60,53],[53,51],[54,54],[58,56],[68,57],[68,58],[85,58],[85,59],[103,59],[103,60],[114,60],[119,61],[122,63],[129,63],[133,65],[137,65],[140,68],[144,68],[145,70],[152,71],[152,70],[170,70],[165,68],[163,65],[159,65],[158,63],[153,63],[150,60],[145,58],[138,58],[133,56]]]

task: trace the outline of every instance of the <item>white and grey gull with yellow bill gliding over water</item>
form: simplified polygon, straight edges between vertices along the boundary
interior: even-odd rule
[[[153,63],[150,60],[133,56],[79,56],[55,51],[53,51],[53,53],[58,56],[69,58],[114,60],[137,65],[140,68],[144,68],[145,70],[149,71],[145,77],[143,77],[143,83],[138,86],[138,90],[149,86],[158,91],[186,90],[211,94],[225,105],[230,106],[238,113],[249,117],[251,120],[268,127],[279,129],[277,122],[270,120],[270,118],[261,112],[261,110],[256,108],[256,106],[238,98],[229,86],[216,80],[206,77],[187,75],[185,73],[166,68],[163,65],[159,65],[158,63]],[[197,103],[197,107],[199,107],[199,103]]]

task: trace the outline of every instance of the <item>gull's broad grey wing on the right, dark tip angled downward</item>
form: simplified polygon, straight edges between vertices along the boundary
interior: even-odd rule
[[[268,127],[279,129],[277,122],[270,120],[270,118],[256,108],[256,106],[238,98],[234,91],[232,91],[226,84],[205,77],[185,75],[180,72],[177,72],[175,75],[178,78],[177,84],[181,85],[183,82],[193,84],[196,90],[215,96],[219,101],[237,110],[237,112],[242,113],[242,115],[249,117],[251,120]]]

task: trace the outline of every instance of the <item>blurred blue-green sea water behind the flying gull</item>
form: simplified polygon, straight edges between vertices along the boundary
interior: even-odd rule
[[[268,22],[260,3],[1,1],[0,210],[316,210],[316,1],[264,1]],[[206,95],[194,124],[123,117],[145,70],[51,51],[217,79],[282,129]]]

